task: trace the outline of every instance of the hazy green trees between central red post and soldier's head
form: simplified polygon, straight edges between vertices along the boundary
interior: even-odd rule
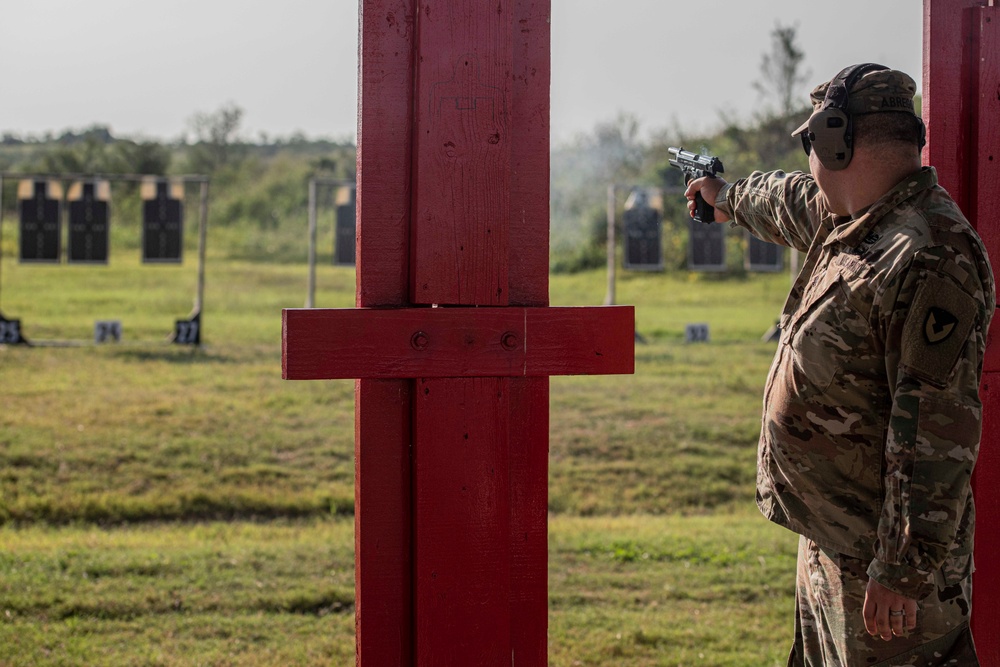
[[[734,180],[754,169],[808,170],[808,160],[790,133],[810,112],[801,93],[809,79],[805,54],[796,39],[796,26],[777,24],[770,50],[762,54],[760,77],[754,88],[760,105],[748,118],[720,114],[714,131],[697,133],[672,127],[646,133],[627,113],[598,124],[593,132],[576,137],[552,152],[551,239],[552,268],[576,271],[603,266],[607,261],[607,189],[609,185],[660,188],[665,193],[683,186],[681,173],[669,165],[671,146],[719,157],[724,176]],[[624,199],[617,202],[618,220]],[[688,216],[680,194],[663,198],[664,260],[667,270],[683,269],[687,262]],[[619,222],[620,224],[620,222]],[[731,235],[729,244],[745,240]],[[742,248],[727,252],[730,268],[742,271]]]

